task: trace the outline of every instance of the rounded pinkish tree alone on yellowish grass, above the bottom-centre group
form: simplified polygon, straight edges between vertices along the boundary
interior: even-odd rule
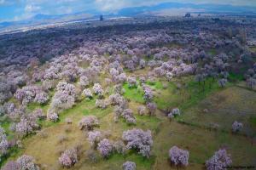
[[[93,127],[99,125],[99,121],[96,116],[84,116],[79,122],[79,128],[82,130],[86,128],[87,130],[92,130]]]

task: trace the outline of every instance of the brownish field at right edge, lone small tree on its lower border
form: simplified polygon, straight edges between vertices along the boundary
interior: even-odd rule
[[[198,126],[218,127],[227,132],[230,132],[232,123],[238,121],[244,125],[241,133],[253,137],[256,135],[255,116],[256,93],[231,87],[202,100],[178,119]]]

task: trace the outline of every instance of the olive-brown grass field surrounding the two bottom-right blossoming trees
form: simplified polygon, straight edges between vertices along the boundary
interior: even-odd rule
[[[233,165],[254,165],[256,146],[242,136],[191,127],[177,122],[163,122],[160,133],[154,139],[154,169],[176,169],[168,163],[168,150],[177,145],[189,150],[189,167],[202,169],[205,161],[221,147],[232,156]]]

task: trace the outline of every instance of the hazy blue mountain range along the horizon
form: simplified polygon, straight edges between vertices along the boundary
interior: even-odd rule
[[[114,14],[105,14],[108,17],[133,17],[145,14],[170,14],[168,11],[182,9],[183,13],[201,13],[201,14],[246,14],[256,15],[255,7],[243,7],[218,4],[194,4],[194,3],[160,3],[153,6],[142,6],[133,8],[122,8]],[[0,31],[9,31],[27,26],[40,26],[45,24],[54,24],[73,20],[96,20],[101,11],[90,9],[75,14],[47,15],[37,14],[29,20],[20,20],[0,23]],[[182,13],[180,13],[182,14]]]

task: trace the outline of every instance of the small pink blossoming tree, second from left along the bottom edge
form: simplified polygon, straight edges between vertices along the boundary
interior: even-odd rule
[[[77,150],[65,150],[61,154],[61,157],[59,157],[59,162],[63,167],[72,167],[75,163],[78,162]]]

